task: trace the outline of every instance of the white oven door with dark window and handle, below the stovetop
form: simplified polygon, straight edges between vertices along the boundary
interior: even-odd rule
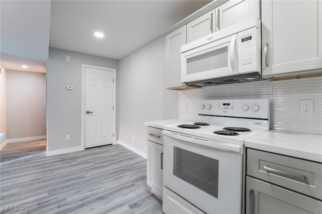
[[[163,134],[164,185],[207,213],[241,213],[243,146]]]

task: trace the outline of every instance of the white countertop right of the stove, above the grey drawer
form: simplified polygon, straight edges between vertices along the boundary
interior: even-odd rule
[[[322,135],[270,130],[246,140],[245,146],[322,163]]]

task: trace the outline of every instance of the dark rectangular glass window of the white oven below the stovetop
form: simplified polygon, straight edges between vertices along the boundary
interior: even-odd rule
[[[173,174],[218,198],[219,161],[174,147]]]

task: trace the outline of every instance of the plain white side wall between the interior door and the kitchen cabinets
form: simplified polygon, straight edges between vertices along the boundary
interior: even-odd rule
[[[144,154],[143,123],[179,117],[178,91],[165,85],[165,48],[160,36],[119,61],[119,140]]]

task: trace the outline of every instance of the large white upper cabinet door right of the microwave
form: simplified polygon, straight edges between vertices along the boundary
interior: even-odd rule
[[[322,2],[262,1],[262,74],[322,68]]]

